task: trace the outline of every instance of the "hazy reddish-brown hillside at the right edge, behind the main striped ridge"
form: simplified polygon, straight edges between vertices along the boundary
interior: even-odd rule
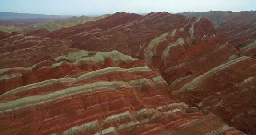
[[[240,51],[240,56],[256,56],[256,14],[240,12],[221,25],[221,30],[231,36],[229,43]]]

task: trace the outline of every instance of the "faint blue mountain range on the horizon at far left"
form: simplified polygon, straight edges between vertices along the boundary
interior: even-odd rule
[[[68,17],[72,17],[72,16],[0,12],[0,20],[28,19],[28,18],[30,19],[31,18],[68,18]]]

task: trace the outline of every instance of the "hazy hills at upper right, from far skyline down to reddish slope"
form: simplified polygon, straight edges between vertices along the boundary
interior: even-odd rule
[[[256,55],[256,13],[255,12],[184,12],[188,17],[202,16],[211,20],[216,28],[226,32],[228,42],[234,44],[240,51],[240,56]]]

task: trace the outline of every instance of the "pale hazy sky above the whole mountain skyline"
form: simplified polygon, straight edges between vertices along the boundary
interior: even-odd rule
[[[256,0],[0,0],[0,11],[57,15],[256,10]]]

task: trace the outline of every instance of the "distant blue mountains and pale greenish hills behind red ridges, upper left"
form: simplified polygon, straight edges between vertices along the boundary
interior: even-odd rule
[[[30,30],[48,29],[53,31],[59,28],[70,27],[77,24],[83,24],[88,21],[95,21],[110,16],[60,16],[60,15],[42,15],[0,12],[0,31],[12,33],[26,33]]]

